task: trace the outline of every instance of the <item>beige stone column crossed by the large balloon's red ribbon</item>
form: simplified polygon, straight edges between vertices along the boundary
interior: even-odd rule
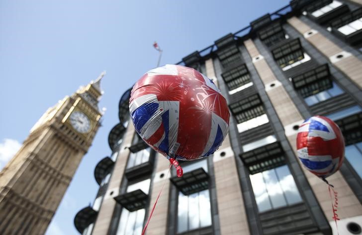
[[[153,204],[156,201],[156,198],[162,188],[162,185],[165,183],[163,192],[157,202],[157,206],[155,208],[155,211],[153,212],[150,224],[147,228],[147,235],[159,235],[159,234],[167,234],[167,215],[169,211],[169,197],[170,197],[170,177],[171,172],[169,176],[166,178],[167,173],[169,171],[170,162],[161,154],[156,153],[157,158],[156,162],[156,174],[153,178],[153,186],[152,186],[152,192],[150,195],[150,207],[148,208],[148,216],[145,218],[146,220],[149,218],[151,214],[151,210],[153,207]],[[165,182],[166,180],[166,182]]]

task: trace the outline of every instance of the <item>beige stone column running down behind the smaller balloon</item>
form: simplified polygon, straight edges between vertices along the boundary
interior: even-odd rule
[[[290,99],[288,93],[285,91],[283,85],[274,76],[268,63],[265,61],[263,56],[259,54],[259,51],[255,47],[253,41],[249,39],[244,43],[250,57],[253,59],[254,66],[264,83],[265,90],[271,101],[271,104],[273,105],[274,110],[279,117],[281,124],[283,125],[285,136],[290,146],[292,146],[296,156],[297,130],[294,130],[293,126],[301,124],[303,122],[303,118],[297,107],[294,105],[293,101]],[[297,162],[299,163],[299,161]],[[331,201],[326,183],[324,183],[317,176],[311,174],[309,171],[305,170],[304,167],[302,167],[302,169],[318,200],[320,207],[323,210],[323,213],[327,217],[328,221],[333,221]],[[344,219],[362,215],[362,205],[341,173],[337,172],[328,179],[339,192],[339,218]],[[308,195],[308,193],[306,193],[304,190],[303,193],[306,195],[307,199],[312,196]],[[318,215],[318,205],[313,204],[313,201],[310,201],[309,204],[312,207],[312,213],[314,215]]]

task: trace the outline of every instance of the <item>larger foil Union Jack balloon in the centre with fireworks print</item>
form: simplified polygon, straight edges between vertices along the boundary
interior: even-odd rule
[[[192,68],[166,65],[133,86],[129,103],[136,131],[168,159],[209,156],[229,130],[229,110],[215,84]]]

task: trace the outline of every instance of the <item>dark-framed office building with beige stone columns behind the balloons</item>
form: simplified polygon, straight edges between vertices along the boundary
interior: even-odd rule
[[[328,187],[296,157],[299,124],[340,126],[346,159],[328,179],[338,191],[340,235],[362,226],[362,1],[292,0],[179,64],[225,95],[230,132],[210,157],[169,162],[129,123],[130,90],[109,133],[111,157],[95,167],[99,190],[75,217],[84,235],[139,235],[166,180],[147,235],[331,235]],[[136,81],[136,79],[135,79]]]

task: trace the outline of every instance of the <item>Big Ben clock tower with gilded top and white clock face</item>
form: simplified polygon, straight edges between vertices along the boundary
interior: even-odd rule
[[[44,234],[100,125],[100,80],[49,108],[0,173],[0,234]]]

